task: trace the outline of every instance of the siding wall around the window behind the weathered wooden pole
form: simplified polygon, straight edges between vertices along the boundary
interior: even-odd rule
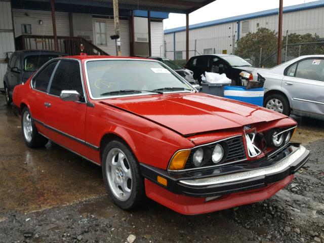
[[[110,35],[114,34],[114,22],[113,19],[103,19],[103,18],[93,18],[93,39],[94,45],[96,44],[96,36],[95,36],[95,21],[101,21],[106,23],[106,33],[107,33],[107,45],[106,46],[98,46],[100,49],[105,51],[111,56],[116,55],[116,45],[115,41],[110,39]],[[121,41],[121,55],[129,56],[130,55],[130,30],[129,30],[129,21],[128,20],[119,20],[119,33],[120,33],[120,41]]]

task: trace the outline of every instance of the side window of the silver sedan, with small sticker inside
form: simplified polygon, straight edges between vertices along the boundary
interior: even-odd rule
[[[296,77],[324,81],[324,60],[306,59],[298,63]]]

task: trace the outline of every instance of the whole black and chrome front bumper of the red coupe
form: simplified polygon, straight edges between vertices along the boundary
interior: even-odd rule
[[[190,197],[215,197],[265,188],[294,175],[308,160],[310,151],[291,143],[279,151],[254,161],[194,172],[168,173],[140,164],[143,176],[174,194]],[[167,179],[167,186],[157,182],[157,176]]]

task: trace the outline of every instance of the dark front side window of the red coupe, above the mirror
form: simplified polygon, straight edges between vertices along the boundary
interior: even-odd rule
[[[50,87],[50,94],[60,96],[62,90],[76,90],[83,97],[80,66],[76,61],[61,60]]]

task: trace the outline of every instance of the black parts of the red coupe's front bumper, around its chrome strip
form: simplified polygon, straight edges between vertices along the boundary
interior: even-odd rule
[[[216,168],[211,170],[201,170],[195,173],[168,173],[166,170],[159,169],[156,167],[148,166],[145,164],[140,163],[140,168],[142,175],[162,186],[165,187],[157,182],[157,176],[164,177],[168,180],[168,185],[165,187],[166,189],[170,190],[176,194],[184,194],[192,197],[209,197],[209,196],[217,196],[217,195],[224,195],[224,194],[231,194],[234,192],[239,191],[247,191],[252,189],[258,189],[265,187],[269,184],[281,181],[288,177],[289,175],[295,174],[308,160],[310,156],[310,151],[306,149],[304,154],[302,154],[296,161],[285,168],[282,171],[267,174],[247,180],[240,180],[234,182],[227,182],[223,184],[215,184],[215,185],[208,185],[208,186],[193,186],[182,184],[179,181],[185,179],[198,179],[204,177],[211,177],[216,175],[226,175],[235,172],[242,172],[242,171],[250,171],[259,168],[271,167],[277,164],[280,160],[284,159],[285,157],[290,156],[294,151],[296,151],[299,147],[299,144],[290,144],[290,146],[286,147],[286,149],[279,151],[276,156],[272,158],[264,157],[263,159],[257,161],[248,161],[245,164],[240,165],[228,165],[224,166],[224,168]]]

